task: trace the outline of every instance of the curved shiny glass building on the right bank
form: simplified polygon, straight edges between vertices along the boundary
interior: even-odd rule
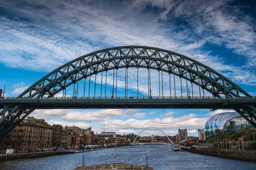
[[[251,127],[237,112],[224,112],[212,116],[204,125],[204,136],[206,139],[219,136],[222,133],[237,132],[242,129]]]

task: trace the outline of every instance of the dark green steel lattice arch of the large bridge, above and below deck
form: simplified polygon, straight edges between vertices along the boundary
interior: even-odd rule
[[[174,74],[198,85],[212,96],[250,97],[238,85],[194,59],[172,51],[145,46],[108,48],[81,56],[55,69],[18,97],[52,97],[93,74],[131,67],[155,69]],[[24,108],[22,105],[7,105],[3,108],[0,112],[0,137],[8,134],[33,110],[33,108]],[[256,108],[253,105],[247,105],[236,111],[256,127]]]

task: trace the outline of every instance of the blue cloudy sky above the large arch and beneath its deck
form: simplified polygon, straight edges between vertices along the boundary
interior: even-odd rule
[[[1,0],[0,88],[6,85],[5,96],[18,96],[84,54],[143,45],[198,60],[256,96],[255,11],[255,3],[233,0]],[[119,134],[154,126],[168,135],[186,128],[198,136],[210,116],[224,111],[230,110],[36,110],[30,116],[92,126],[95,133],[103,125]]]

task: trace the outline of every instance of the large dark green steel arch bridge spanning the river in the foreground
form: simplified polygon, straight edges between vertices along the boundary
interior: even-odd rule
[[[130,73],[131,69],[137,69],[137,73]],[[140,69],[145,70],[143,77],[147,77],[147,81],[139,79]],[[117,74],[121,70],[125,70],[121,72],[122,81],[119,82],[124,95],[119,96]],[[157,76],[151,76],[153,71],[158,72]],[[113,86],[112,82],[107,84],[107,74],[110,73]],[[128,95],[128,73],[132,74],[129,74],[130,77],[137,79],[137,85],[133,85],[137,86],[137,89],[133,87],[137,95]],[[167,74],[167,78],[163,79],[163,74]],[[100,85],[96,85],[97,75]],[[94,84],[91,80],[93,76]],[[147,83],[146,95],[140,93],[140,81]],[[153,88],[154,83],[159,86],[159,95],[152,96],[152,89],[158,91]],[[109,84],[111,94],[106,91],[110,88]],[[169,88],[167,95],[166,88]],[[69,93],[67,89],[72,92]],[[42,77],[19,96],[1,98],[0,138],[10,133],[35,109],[232,108],[256,127],[255,105],[255,97],[194,59],[160,48],[121,46],[74,59]]]

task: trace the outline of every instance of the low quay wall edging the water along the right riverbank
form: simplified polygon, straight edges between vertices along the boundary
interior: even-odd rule
[[[198,153],[209,156],[216,156],[221,158],[236,159],[240,161],[250,161],[256,163],[256,154],[254,153],[239,153],[239,152],[226,152],[221,150],[203,150],[203,149],[191,149],[188,147],[181,147],[182,150]]]

